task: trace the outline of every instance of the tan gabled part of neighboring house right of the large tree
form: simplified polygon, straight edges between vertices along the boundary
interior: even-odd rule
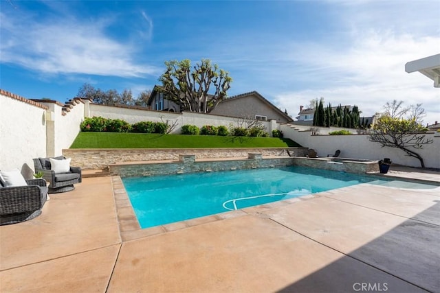
[[[276,120],[278,123],[294,121],[292,117],[274,106],[256,91],[223,99],[210,114],[263,121]]]

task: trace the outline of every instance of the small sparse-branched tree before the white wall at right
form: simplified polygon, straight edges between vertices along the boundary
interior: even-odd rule
[[[421,108],[421,104],[408,107],[402,104],[403,101],[397,100],[385,104],[384,112],[378,114],[374,122],[369,139],[380,143],[382,147],[403,150],[407,156],[418,159],[424,168],[423,158],[416,150],[432,143],[432,139],[426,137],[426,128],[422,126],[425,109]]]

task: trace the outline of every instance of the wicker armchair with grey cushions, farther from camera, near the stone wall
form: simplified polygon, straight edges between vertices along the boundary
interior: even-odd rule
[[[57,156],[52,159],[63,160],[65,157]],[[35,172],[43,172],[43,178],[50,183],[50,194],[74,190],[74,184],[81,183],[82,180],[80,167],[70,167],[70,172],[55,174],[55,172],[50,169],[50,158],[34,159],[34,167]]]

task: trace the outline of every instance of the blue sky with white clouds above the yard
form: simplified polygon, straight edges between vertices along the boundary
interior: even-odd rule
[[[88,82],[153,89],[164,61],[208,58],[228,95],[258,91],[293,117],[300,105],[422,103],[440,121],[440,90],[405,63],[440,53],[440,0],[2,0],[0,87],[66,102]]]

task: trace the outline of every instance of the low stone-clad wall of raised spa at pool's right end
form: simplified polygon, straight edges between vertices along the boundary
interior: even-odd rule
[[[324,159],[293,158],[293,159],[294,159],[293,160],[294,165],[305,166],[305,167],[327,169],[333,171],[344,171],[344,172],[358,173],[358,174],[379,173],[379,164],[377,164],[377,161],[354,162],[354,161],[349,161],[350,159],[347,159],[347,161],[338,163],[338,162],[329,161],[325,158]]]

